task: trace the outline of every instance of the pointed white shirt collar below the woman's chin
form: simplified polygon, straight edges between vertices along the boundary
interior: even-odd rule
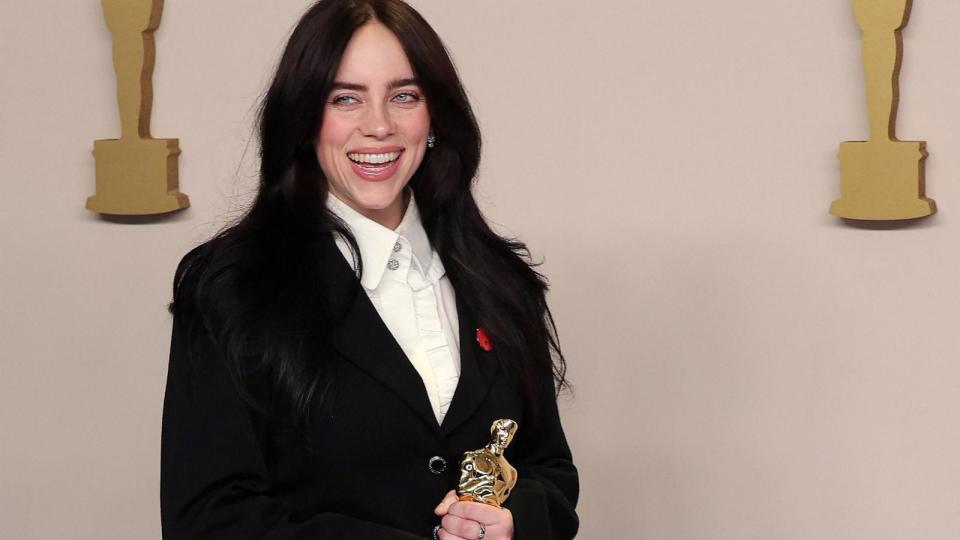
[[[380,285],[387,268],[387,262],[393,254],[394,245],[401,237],[410,244],[413,257],[420,265],[424,275],[427,274],[431,266],[439,264],[439,259],[433,256],[433,248],[430,246],[427,231],[423,228],[420,211],[412,193],[403,219],[396,230],[390,230],[357,212],[333,193],[330,193],[327,197],[327,208],[347,225],[357,241],[360,260],[363,261],[363,275],[360,276],[360,283],[365,289],[374,290]],[[337,245],[347,261],[352,263],[350,250],[346,242],[338,239]]]

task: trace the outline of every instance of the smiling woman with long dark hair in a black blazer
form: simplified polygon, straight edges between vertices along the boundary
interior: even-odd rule
[[[259,128],[256,200],[175,277],[164,538],[572,538],[545,282],[471,195],[438,36],[400,0],[317,2]],[[499,418],[510,498],[457,501]]]

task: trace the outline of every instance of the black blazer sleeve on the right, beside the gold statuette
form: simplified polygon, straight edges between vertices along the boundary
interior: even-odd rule
[[[566,540],[576,536],[580,525],[580,484],[560,425],[552,377],[541,385],[538,404],[538,420],[521,426],[517,434],[517,462],[512,465],[519,479],[504,506],[513,514],[515,540]]]

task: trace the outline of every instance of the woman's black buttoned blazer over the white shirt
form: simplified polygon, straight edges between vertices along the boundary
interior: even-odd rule
[[[355,284],[332,241],[326,249],[336,261],[327,277]],[[466,306],[458,316],[460,381],[438,424],[420,376],[366,295],[357,295],[325,359],[336,384],[306,436],[251,410],[209,337],[188,339],[175,317],[161,443],[163,538],[429,538],[439,523],[434,507],[456,487],[460,456],[489,442],[498,418],[519,422],[506,452],[519,473],[506,503],[516,538],[573,538],[577,471],[549,375],[534,423],[496,343],[480,348],[478,322]]]

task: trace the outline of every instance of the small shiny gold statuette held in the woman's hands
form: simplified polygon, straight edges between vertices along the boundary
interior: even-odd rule
[[[464,452],[457,486],[461,501],[503,506],[510,490],[517,484],[517,470],[503,457],[503,451],[516,432],[516,422],[501,418],[490,426],[490,444]]]

